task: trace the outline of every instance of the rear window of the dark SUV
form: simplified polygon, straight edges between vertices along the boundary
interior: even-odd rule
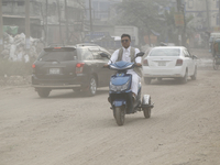
[[[41,62],[66,62],[76,61],[77,51],[43,51],[38,57]]]

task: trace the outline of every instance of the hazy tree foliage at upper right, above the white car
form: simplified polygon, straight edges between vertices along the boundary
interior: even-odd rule
[[[162,41],[168,38],[169,42],[178,43],[178,28],[174,20],[175,7],[169,12],[160,11],[160,7],[163,10],[168,2],[167,0],[123,0],[116,4],[118,11],[116,23],[138,26],[140,36],[150,35],[151,30],[154,30],[161,33]],[[186,18],[186,24],[191,20],[191,16]],[[189,29],[186,32],[189,32]]]

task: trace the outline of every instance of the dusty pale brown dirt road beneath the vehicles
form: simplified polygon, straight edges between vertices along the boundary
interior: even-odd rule
[[[0,165],[219,165],[220,70],[199,65],[187,85],[143,85],[152,118],[127,116],[123,127],[108,88],[94,98],[58,90],[47,99],[29,86],[1,88]]]

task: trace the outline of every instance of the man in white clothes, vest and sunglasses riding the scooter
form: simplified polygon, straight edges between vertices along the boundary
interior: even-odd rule
[[[109,64],[116,63],[119,61],[124,61],[128,63],[135,63],[135,66],[133,69],[129,69],[127,74],[132,75],[132,85],[131,90],[133,92],[133,101],[136,100],[138,91],[139,91],[139,82],[141,81],[142,77],[142,57],[136,57],[136,54],[140,53],[139,48],[131,47],[131,36],[129,34],[122,34],[121,35],[121,44],[122,47],[117,50],[108,64],[105,65],[105,67],[108,67]],[[136,57],[136,58],[135,58]]]

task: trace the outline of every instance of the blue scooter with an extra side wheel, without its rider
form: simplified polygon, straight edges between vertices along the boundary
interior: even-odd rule
[[[100,55],[101,57],[109,58],[105,53],[101,53]],[[136,54],[136,57],[143,55],[144,53],[141,52]],[[151,102],[150,95],[144,95],[141,98],[141,82],[139,84],[136,99],[133,99],[133,94],[131,91],[132,75],[127,74],[127,70],[135,66],[135,63],[127,63],[123,61],[116,62],[114,64],[111,63],[109,65],[109,69],[117,70],[110,79],[108,100],[111,103],[113,117],[118,125],[124,124],[125,114],[132,114],[136,111],[143,111],[144,117],[146,119],[150,118],[151,109],[154,107]]]

